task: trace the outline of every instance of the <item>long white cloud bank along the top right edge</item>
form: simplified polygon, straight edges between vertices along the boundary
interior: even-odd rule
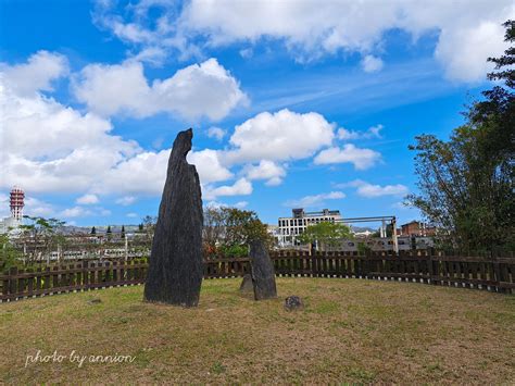
[[[439,33],[436,57],[449,77],[459,80],[485,78],[488,57],[499,55],[500,24],[515,16],[511,0],[489,1],[246,1],[209,2],[193,0],[179,18],[189,34],[211,45],[254,42],[276,38],[298,60],[313,60],[338,51],[373,52],[384,35],[402,29],[414,38]],[[379,62],[366,55],[363,65],[379,70]]]

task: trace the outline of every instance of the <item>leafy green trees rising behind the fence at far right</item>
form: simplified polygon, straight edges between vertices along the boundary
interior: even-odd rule
[[[418,195],[411,204],[443,232],[445,247],[466,250],[515,249],[515,22],[504,23],[511,47],[489,58],[503,80],[468,107],[465,125],[443,141],[432,135],[415,137]]]

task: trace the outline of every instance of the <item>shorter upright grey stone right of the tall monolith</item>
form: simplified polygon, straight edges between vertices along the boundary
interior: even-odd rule
[[[250,265],[254,299],[277,298],[274,265],[263,241],[256,240],[250,244]]]

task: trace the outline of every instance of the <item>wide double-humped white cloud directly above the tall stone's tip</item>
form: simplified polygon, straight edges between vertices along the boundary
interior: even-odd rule
[[[247,102],[238,82],[216,59],[178,70],[174,76],[155,79],[152,85],[140,62],[90,64],[74,78],[72,89],[77,100],[104,116],[146,117],[167,112],[188,120],[206,116],[218,121]]]

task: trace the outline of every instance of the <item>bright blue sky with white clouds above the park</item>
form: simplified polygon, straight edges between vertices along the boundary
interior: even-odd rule
[[[137,224],[176,134],[204,204],[419,217],[413,153],[489,87],[511,1],[0,4],[0,214]]]

